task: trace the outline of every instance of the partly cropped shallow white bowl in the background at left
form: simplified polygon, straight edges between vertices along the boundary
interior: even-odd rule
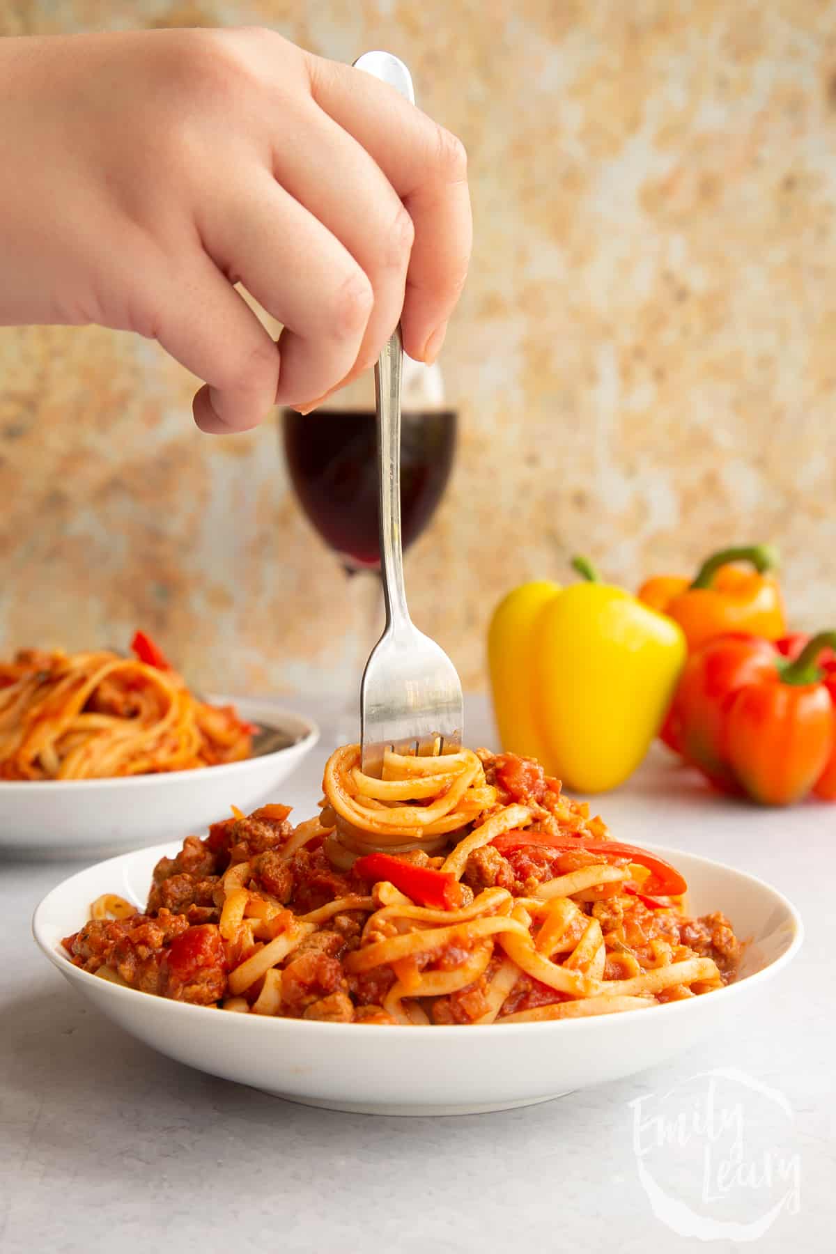
[[[237,805],[244,813],[276,796],[320,739],[303,715],[269,701],[237,697],[238,712],[281,727],[295,745],[224,766],[109,780],[0,781],[0,853],[19,858],[103,856],[123,849],[182,840],[204,831]]]

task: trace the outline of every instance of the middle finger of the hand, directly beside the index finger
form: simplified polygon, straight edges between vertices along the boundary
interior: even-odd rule
[[[397,326],[415,236],[412,219],[376,162],[315,105],[308,104],[292,134],[282,135],[274,173],[345,245],[371,283],[374,308],[352,377],[377,360]],[[306,399],[318,395],[312,391]]]

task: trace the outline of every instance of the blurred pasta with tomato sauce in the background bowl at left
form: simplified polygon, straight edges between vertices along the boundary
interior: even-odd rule
[[[21,650],[0,665],[0,779],[81,780],[248,757],[252,727],[198,701],[148,637],[139,656]]]

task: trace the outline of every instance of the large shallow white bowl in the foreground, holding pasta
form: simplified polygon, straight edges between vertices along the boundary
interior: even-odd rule
[[[686,875],[693,913],[723,910],[737,934],[751,938],[742,978],[728,988],[622,1014],[490,1027],[374,1027],[233,1014],[99,979],[74,967],[60,946],[102,893],[144,904],[154,863],[174,851],[164,845],[123,854],[65,880],[35,912],[38,944],[103,1014],[160,1053],[333,1110],[476,1114],[546,1101],[630,1075],[732,1018],[743,1025],[751,999],[766,992],[802,939],[798,914],[768,884],[706,858],[659,849]]]

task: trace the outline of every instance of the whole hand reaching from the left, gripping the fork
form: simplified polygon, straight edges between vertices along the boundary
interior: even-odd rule
[[[204,431],[312,408],[399,317],[432,360],[468,268],[459,140],[269,30],[0,40],[0,324],[158,340]]]

